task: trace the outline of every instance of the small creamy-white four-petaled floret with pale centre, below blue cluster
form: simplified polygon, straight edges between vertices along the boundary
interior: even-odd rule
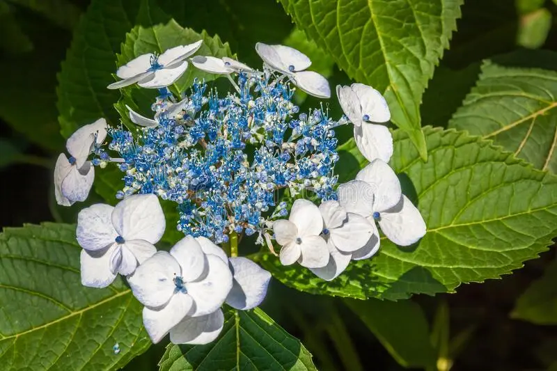
[[[329,262],[327,242],[320,237],[323,219],[311,201],[295,200],[288,220],[274,221],[273,230],[282,246],[279,258],[283,265],[299,262],[306,268],[320,268]]]

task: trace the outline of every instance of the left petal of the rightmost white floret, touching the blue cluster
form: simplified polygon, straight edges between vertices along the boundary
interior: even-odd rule
[[[347,212],[354,212],[361,216],[373,214],[373,198],[375,189],[361,180],[350,180],[340,184],[337,191],[338,202]]]

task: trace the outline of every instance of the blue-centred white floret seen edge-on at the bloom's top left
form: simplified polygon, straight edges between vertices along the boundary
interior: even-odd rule
[[[159,56],[152,53],[138,56],[118,68],[116,75],[122,80],[107,88],[118,89],[135,83],[142,88],[164,88],[171,85],[187,69],[185,59],[197,52],[202,43],[203,40],[199,40],[193,44],[173,47]]]

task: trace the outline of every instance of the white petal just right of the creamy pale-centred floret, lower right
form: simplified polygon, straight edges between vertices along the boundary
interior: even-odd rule
[[[373,235],[373,222],[365,217],[348,213],[347,221],[339,228],[330,229],[330,239],[333,240],[336,248],[346,253],[352,253],[366,245]]]

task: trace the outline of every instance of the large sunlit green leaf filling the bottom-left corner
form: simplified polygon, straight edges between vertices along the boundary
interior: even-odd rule
[[[68,224],[0,235],[4,369],[116,370],[149,347],[139,301],[121,280],[105,289],[82,286],[80,252]]]

